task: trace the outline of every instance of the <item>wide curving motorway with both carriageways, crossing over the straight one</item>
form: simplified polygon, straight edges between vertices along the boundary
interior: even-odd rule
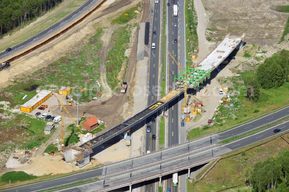
[[[274,112],[272,114],[268,114],[262,118],[256,119],[255,121],[241,125],[234,129],[230,129],[228,131],[219,134],[209,135],[207,137],[187,142],[175,147],[167,148],[161,151],[157,151],[155,153],[103,166],[96,170],[90,170],[74,174],[71,176],[67,176],[64,178],[39,182],[32,185],[26,185],[4,191],[14,192],[18,190],[18,192],[31,192],[42,190],[48,187],[66,185],[71,182],[76,182],[79,180],[85,180],[93,177],[102,176],[103,178],[100,178],[101,180],[97,182],[65,190],[71,192],[94,191],[103,187],[116,185],[118,183],[144,178],[145,176],[158,174],[160,172],[170,170],[174,167],[189,165],[190,163],[194,163],[209,157],[216,157],[221,154],[228,153],[229,151],[236,150],[238,148],[242,148],[249,144],[258,142],[260,140],[272,137],[277,134],[273,133],[273,130],[276,128],[281,129],[279,133],[288,131],[289,122],[287,121],[275,127],[271,127],[264,131],[260,131],[249,137],[245,137],[240,140],[236,140],[234,142],[230,142],[221,146],[216,145],[216,141],[218,142],[220,140],[230,138],[232,135],[245,133],[264,124],[272,123],[277,119],[288,116],[288,114],[289,114],[289,107]]]

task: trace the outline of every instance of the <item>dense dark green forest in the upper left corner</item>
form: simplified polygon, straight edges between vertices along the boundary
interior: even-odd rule
[[[15,27],[45,14],[62,0],[0,0],[0,38]]]

